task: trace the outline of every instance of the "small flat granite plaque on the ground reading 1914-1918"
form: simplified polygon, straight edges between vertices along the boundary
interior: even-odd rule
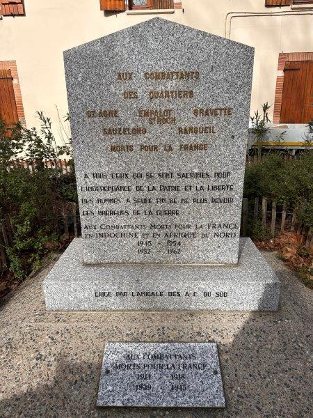
[[[216,343],[107,343],[97,405],[225,407]]]

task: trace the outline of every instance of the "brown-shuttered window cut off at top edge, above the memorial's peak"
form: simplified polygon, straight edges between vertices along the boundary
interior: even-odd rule
[[[100,0],[101,10],[159,10],[182,8],[182,2],[177,0]]]

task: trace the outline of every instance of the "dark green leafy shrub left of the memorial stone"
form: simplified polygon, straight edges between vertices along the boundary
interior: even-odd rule
[[[74,173],[63,174],[58,162],[71,156],[70,141],[59,146],[51,120],[42,112],[38,118],[40,130],[18,123],[11,132],[0,121],[0,223],[10,215],[13,245],[6,249],[7,268],[17,279],[38,268],[42,255],[60,238],[55,231],[57,202],[77,200]],[[21,158],[31,170],[13,163]],[[53,168],[47,169],[47,162]]]

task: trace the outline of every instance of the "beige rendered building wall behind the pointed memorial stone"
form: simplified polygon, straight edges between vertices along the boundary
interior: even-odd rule
[[[55,125],[67,113],[63,50],[155,16],[255,47],[251,114],[274,102],[278,54],[313,51],[312,8],[266,8],[264,0],[182,0],[182,10],[162,15],[104,13],[99,0],[24,3],[26,16],[0,21],[0,61],[17,61],[27,127],[38,125],[36,110]]]

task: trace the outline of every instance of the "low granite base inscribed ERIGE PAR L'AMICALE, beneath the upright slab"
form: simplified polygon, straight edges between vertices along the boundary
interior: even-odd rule
[[[43,290],[48,311],[277,311],[280,281],[250,238],[236,265],[83,265],[75,238]]]

